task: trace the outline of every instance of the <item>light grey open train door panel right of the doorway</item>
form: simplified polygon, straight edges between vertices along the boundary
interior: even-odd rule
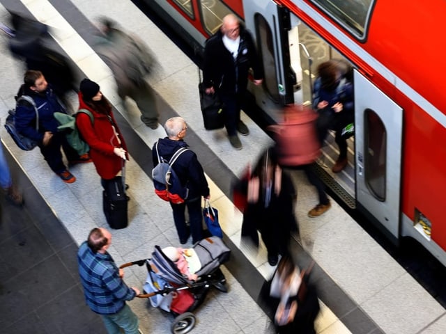
[[[403,109],[354,71],[357,208],[399,237]]]

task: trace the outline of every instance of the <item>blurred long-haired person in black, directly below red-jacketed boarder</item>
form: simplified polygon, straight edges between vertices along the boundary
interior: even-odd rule
[[[294,214],[297,192],[291,177],[277,164],[274,150],[268,149],[236,189],[247,200],[242,237],[259,246],[259,231],[268,250],[268,263],[275,266],[278,255],[289,254],[291,233],[298,232]]]

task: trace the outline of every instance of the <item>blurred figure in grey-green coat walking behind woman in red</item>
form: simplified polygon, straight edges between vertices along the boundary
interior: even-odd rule
[[[153,90],[145,79],[153,71],[155,57],[139,38],[116,29],[111,19],[102,18],[100,23],[102,35],[95,48],[114,74],[119,97],[134,100],[141,111],[141,121],[156,129],[159,113]]]

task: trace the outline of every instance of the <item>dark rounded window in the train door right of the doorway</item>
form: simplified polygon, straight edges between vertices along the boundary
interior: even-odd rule
[[[385,200],[385,171],[387,154],[387,134],[383,121],[371,109],[364,114],[365,129],[365,181],[377,200]]]

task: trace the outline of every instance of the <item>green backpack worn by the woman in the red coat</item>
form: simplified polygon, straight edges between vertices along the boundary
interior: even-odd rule
[[[77,113],[75,113],[75,115],[73,116],[66,113],[56,112],[54,113],[54,118],[56,118],[57,122],[59,122],[59,127],[57,127],[59,132],[66,132],[68,143],[72,148],[76,150],[77,154],[79,154],[80,156],[82,154],[88,153],[90,147],[89,144],[87,144],[82,138],[79,129],[77,129],[76,117],[79,113],[86,113],[88,116],[90,116],[91,124],[93,124],[93,114],[91,113],[91,111],[86,109],[79,109],[79,111],[77,111]]]

